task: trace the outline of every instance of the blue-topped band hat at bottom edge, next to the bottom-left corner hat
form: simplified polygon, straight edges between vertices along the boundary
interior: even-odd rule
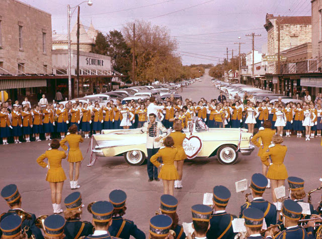
[[[60,215],[50,215],[44,220],[45,239],[63,239],[65,219]]]

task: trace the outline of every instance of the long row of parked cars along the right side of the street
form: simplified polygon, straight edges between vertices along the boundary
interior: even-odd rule
[[[244,84],[234,84],[234,83],[227,83],[227,82],[222,82],[219,79],[212,79],[212,84],[219,90],[225,92],[227,96],[229,97],[230,100],[233,100],[233,97],[238,94],[241,99],[244,99],[245,93],[248,95],[253,95],[255,101],[261,102],[263,100],[266,100],[266,97],[269,97],[269,100],[271,102],[278,101],[278,98],[282,98],[282,102],[284,104],[288,102],[293,102],[293,103],[302,103],[301,100],[293,99],[289,96],[284,96],[280,94],[275,94],[272,91],[267,91],[267,90],[262,90],[257,87],[253,86],[247,86]]]

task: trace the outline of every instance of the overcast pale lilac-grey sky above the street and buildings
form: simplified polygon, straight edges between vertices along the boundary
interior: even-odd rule
[[[82,0],[22,0],[52,15],[52,30],[67,33],[67,4],[71,7]],[[198,6],[197,6],[198,5]],[[125,10],[125,11],[122,11]],[[182,11],[181,11],[182,10]],[[166,26],[171,36],[179,42],[178,54],[183,64],[213,63],[225,57],[226,47],[238,54],[238,36],[241,52],[249,52],[252,40],[246,34],[262,34],[256,37],[255,49],[262,49],[267,42],[266,13],[281,16],[310,16],[309,0],[93,0],[93,6],[81,5],[81,21],[96,29],[108,32],[121,30],[126,23],[147,20]],[[163,16],[164,15],[164,16]],[[76,22],[73,14],[71,28]]]

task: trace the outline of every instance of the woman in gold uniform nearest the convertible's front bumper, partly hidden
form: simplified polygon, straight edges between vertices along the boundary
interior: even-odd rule
[[[268,150],[268,147],[272,142],[272,138],[275,135],[275,130],[271,129],[272,128],[271,121],[265,120],[263,123],[263,127],[264,127],[264,130],[259,130],[257,134],[255,134],[254,137],[252,138],[252,143],[255,146],[259,147],[258,156],[260,156],[260,158]],[[257,141],[257,139],[259,138],[262,141],[261,143]],[[268,166],[266,166],[264,162],[262,162],[262,173],[265,177],[267,176],[267,170],[268,170]],[[271,187],[271,181],[269,179],[268,179],[267,187],[268,188]]]

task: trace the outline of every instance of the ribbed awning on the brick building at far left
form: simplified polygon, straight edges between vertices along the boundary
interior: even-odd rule
[[[0,90],[46,86],[46,79],[0,79]]]

